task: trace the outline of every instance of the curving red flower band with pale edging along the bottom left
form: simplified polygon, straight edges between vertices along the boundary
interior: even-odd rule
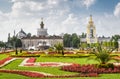
[[[43,72],[35,72],[35,71],[22,71],[22,70],[5,70],[0,69],[0,72],[4,73],[12,73],[12,74],[19,74],[27,77],[33,77],[33,78],[71,78],[71,77],[80,77],[79,74],[75,75],[51,75]]]

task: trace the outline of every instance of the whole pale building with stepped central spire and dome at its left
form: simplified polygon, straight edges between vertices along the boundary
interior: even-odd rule
[[[18,37],[21,38],[22,47],[25,49],[47,49],[55,44],[62,43],[63,38],[61,36],[50,36],[47,33],[47,29],[44,29],[43,20],[41,21],[40,28],[37,29],[37,36],[27,37],[26,33],[21,29],[18,33]]]

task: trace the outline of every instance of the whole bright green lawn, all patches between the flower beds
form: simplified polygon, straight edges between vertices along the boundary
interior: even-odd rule
[[[6,58],[8,55],[0,54],[0,58]],[[36,57],[36,62],[68,62],[68,63],[78,63],[78,64],[96,64],[97,61],[89,60],[88,58],[71,58],[71,57]],[[1,69],[10,69],[10,70],[28,70],[28,71],[38,71],[45,72],[54,75],[73,75],[75,72],[67,72],[60,70],[60,67],[21,67],[18,66],[23,61],[23,58],[12,61],[10,64],[2,67]],[[77,77],[77,78],[67,78],[67,79],[120,79],[119,74],[101,74],[100,77]],[[17,74],[8,74],[0,73],[0,79],[38,79],[31,78]],[[39,78],[40,79],[40,78]],[[41,79],[51,79],[51,78],[41,78]],[[52,78],[58,79],[58,78]],[[66,78],[63,78],[66,79]]]

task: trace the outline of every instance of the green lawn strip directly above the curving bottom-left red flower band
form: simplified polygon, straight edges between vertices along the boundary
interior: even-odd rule
[[[22,61],[23,61],[22,59],[17,59],[11,62],[10,64],[4,66],[3,69],[38,71],[38,72],[45,72],[45,73],[50,73],[54,75],[73,74],[73,72],[66,72],[66,71],[60,70],[60,67],[20,67],[18,66]]]

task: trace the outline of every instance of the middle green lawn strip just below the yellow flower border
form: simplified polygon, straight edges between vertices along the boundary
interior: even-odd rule
[[[71,57],[39,57],[36,62],[68,62],[78,64],[96,64],[95,60],[87,60],[87,58],[71,58]]]

